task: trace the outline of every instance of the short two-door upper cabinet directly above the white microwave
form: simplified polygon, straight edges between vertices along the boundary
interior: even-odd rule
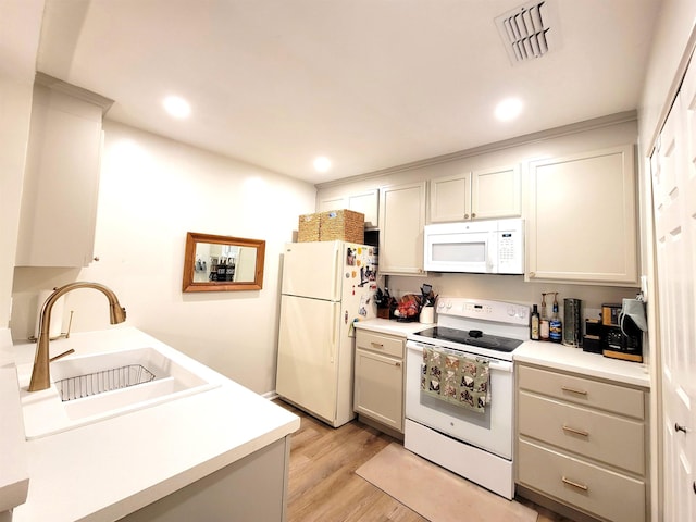
[[[519,165],[431,179],[430,222],[518,217],[521,187]]]

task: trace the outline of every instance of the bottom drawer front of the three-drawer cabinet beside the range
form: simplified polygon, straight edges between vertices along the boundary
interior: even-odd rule
[[[645,522],[643,481],[524,440],[518,446],[518,482],[612,522]]]

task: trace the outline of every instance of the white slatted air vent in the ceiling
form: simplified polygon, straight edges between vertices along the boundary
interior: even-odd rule
[[[521,5],[495,18],[508,58],[513,65],[540,58],[554,48],[548,1]]]

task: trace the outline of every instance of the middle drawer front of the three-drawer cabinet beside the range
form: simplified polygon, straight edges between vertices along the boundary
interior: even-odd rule
[[[520,391],[520,435],[645,475],[645,426],[600,411]]]

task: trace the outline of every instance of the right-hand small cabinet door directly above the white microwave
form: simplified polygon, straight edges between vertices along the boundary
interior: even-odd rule
[[[519,217],[522,215],[521,189],[518,165],[472,172],[471,217]]]

